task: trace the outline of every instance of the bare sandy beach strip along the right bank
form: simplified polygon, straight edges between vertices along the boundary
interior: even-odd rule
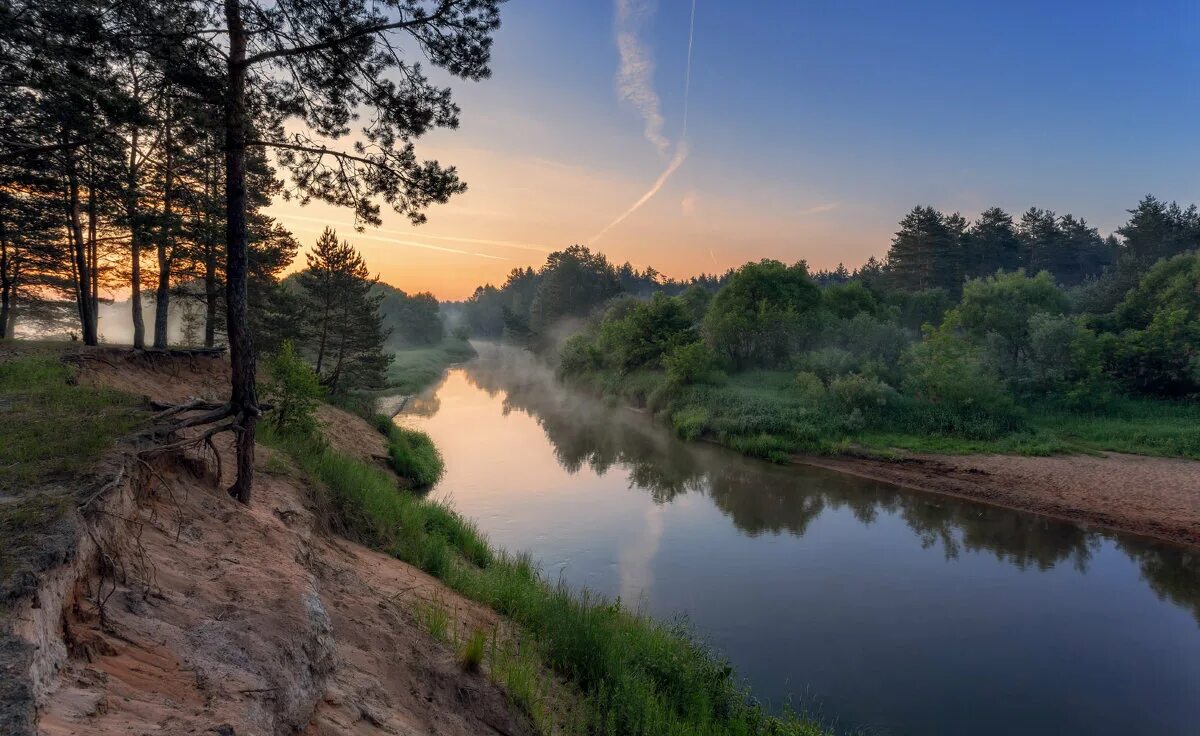
[[[799,456],[797,462],[1080,523],[1200,546],[1200,462],[1110,453]]]

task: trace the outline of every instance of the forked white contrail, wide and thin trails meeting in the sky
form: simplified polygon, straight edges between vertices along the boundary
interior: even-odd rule
[[[665,154],[671,143],[662,136],[662,114],[659,112],[659,96],[650,84],[650,73],[654,64],[649,59],[644,46],[638,40],[636,31],[631,28],[634,20],[641,19],[646,14],[643,6],[635,6],[636,0],[617,0],[617,50],[620,54],[620,70],[617,74],[618,89],[622,96],[634,103],[646,119],[646,139]],[[599,233],[588,241],[594,244],[604,238],[608,231],[625,221],[630,215],[642,208],[643,204],[654,198],[659,190],[666,185],[671,174],[676,173],[688,158],[688,102],[691,94],[691,49],[696,37],[696,0],[691,0],[691,20],[688,26],[688,66],[683,84],[683,131],[679,142],[676,143],[676,152],[667,163],[666,169],[659,174],[654,184],[637,202],[622,213],[616,220],[606,225]]]

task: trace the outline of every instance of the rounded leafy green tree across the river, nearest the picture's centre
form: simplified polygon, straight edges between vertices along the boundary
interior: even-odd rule
[[[704,340],[738,369],[775,366],[803,343],[820,304],[803,263],[748,263],[713,298]]]

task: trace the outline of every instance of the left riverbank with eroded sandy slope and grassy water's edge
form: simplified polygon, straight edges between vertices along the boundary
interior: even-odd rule
[[[218,399],[228,373],[221,359],[90,353],[72,383],[156,401]],[[389,471],[390,433],[337,407],[322,406],[318,419],[323,436],[260,426],[248,508],[222,490],[226,437],[125,475],[125,505],[101,513],[126,526],[107,535],[79,526],[121,574],[79,552],[78,569],[50,574],[58,598],[38,587],[16,602],[13,621],[42,622],[59,652],[28,665],[41,680],[18,704],[24,725],[36,718],[38,732],[55,735],[826,732],[768,716],[686,633],[547,581],[445,505],[403,491]],[[130,463],[140,467],[133,455]],[[14,666],[24,682],[26,663]]]

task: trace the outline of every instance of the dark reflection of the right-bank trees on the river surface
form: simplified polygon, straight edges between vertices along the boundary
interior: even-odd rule
[[[564,389],[547,369],[522,354],[478,360],[466,371],[468,381],[490,395],[504,391],[505,412],[533,417],[569,472],[587,466],[602,474],[614,465],[625,466],[630,484],[647,490],[658,503],[703,491],[750,535],[802,535],[827,509],[846,509],[864,525],[881,514],[895,515],[923,546],[941,546],[948,558],[990,552],[1020,569],[1044,570],[1070,562],[1082,572],[1100,544],[1100,534],[1045,516],[901,490],[833,471],[773,466],[684,443],[646,417]],[[1189,608],[1200,620],[1200,556],[1127,538],[1118,545],[1160,597]]]

